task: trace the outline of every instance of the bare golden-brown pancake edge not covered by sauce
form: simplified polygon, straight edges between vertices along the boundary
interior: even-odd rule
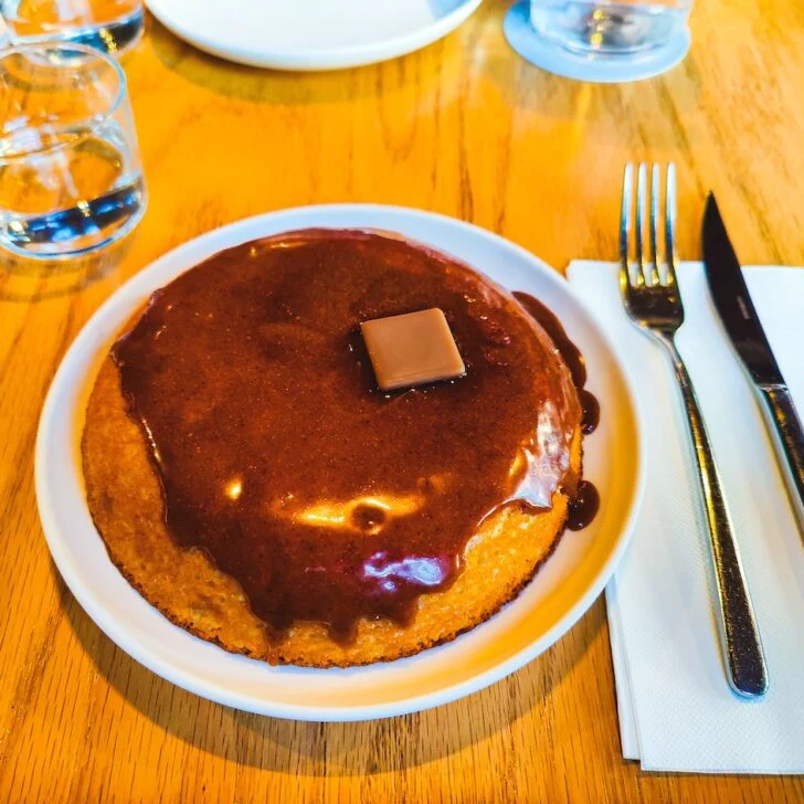
[[[129,583],[171,622],[226,650],[314,667],[392,660],[455,638],[512,600],[554,549],[568,498],[550,510],[507,506],[488,517],[465,550],[465,569],[443,592],[419,599],[413,623],[361,620],[340,645],[318,623],[297,623],[271,644],[236,581],[198,549],[176,544],[165,525],[161,489],[138,424],[128,416],[117,367],[107,358],[86,412],[82,442],[87,501],[109,557]],[[571,464],[581,468],[575,432]],[[571,537],[568,537],[571,538]]]

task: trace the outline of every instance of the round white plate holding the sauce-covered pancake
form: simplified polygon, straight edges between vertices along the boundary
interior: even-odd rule
[[[585,441],[585,475],[601,493],[597,517],[568,531],[522,594],[455,642],[389,664],[352,669],[271,667],[235,656],[172,625],[128,585],[106,554],[86,507],[80,438],[95,375],[115,336],[147,297],[229,246],[305,226],[396,231],[476,266],[514,290],[541,298],[582,349],[588,387],[601,401]],[[569,284],[528,252],[482,229],[416,210],[379,205],[306,207],[251,218],[198,237],[120,287],[67,351],[42,411],[36,499],[64,580],[87,614],[124,650],[205,698],[304,720],[362,720],[459,698],[512,673],[552,645],[600,594],[622,556],[641,495],[644,464],[634,402],[606,336]]]

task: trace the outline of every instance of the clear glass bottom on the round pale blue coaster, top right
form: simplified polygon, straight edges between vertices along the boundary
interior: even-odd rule
[[[531,0],[537,33],[570,51],[616,56],[684,34],[692,0]]]

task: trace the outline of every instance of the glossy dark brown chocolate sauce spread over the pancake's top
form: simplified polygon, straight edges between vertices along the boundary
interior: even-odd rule
[[[465,377],[380,392],[358,324],[429,307]],[[488,514],[547,508],[571,475],[581,410],[549,337],[400,240],[307,230],[230,248],[154,294],[113,357],[170,533],[239,581],[272,638],[409,622]]]

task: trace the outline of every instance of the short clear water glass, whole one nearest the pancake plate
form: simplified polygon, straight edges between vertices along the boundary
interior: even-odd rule
[[[130,232],[145,207],[120,66],[72,43],[0,51],[0,247],[85,254]]]

